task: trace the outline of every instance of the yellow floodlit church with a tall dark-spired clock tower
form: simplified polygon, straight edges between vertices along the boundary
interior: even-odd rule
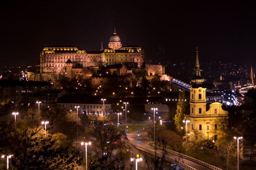
[[[198,129],[203,131],[210,141],[218,139],[218,134],[211,134],[211,128],[219,128],[214,121],[217,117],[227,117],[228,112],[222,109],[222,104],[213,102],[211,104],[206,102],[206,88],[202,85],[204,79],[201,77],[201,69],[198,60],[198,51],[196,51],[196,66],[195,76],[192,78],[194,83],[190,87],[190,115],[187,119],[189,122],[189,130]],[[214,126],[211,126],[214,125]]]

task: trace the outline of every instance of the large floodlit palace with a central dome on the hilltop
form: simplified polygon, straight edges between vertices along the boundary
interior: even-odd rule
[[[79,64],[82,68],[97,66],[99,62],[106,65],[135,63],[142,67],[144,63],[144,49],[136,45],[122,47],[120,37],[115,30],[109,39],[107,49],[87,51],[73,46],[48,46],[40,54],[40,74],[29,73],[29,80],[49,81],[56,80],[58,74],[67,72],[67,61]],[[80,72],[79,72],[80,73]]]

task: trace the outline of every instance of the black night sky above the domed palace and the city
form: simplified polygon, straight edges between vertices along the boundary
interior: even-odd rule
[[[146,64],[159,46],[175,62],[253,64],[256,1],[3,1],[0,66],[39,61],[49,45],[107,48],[114,28],[122,46],[145,49]]]

